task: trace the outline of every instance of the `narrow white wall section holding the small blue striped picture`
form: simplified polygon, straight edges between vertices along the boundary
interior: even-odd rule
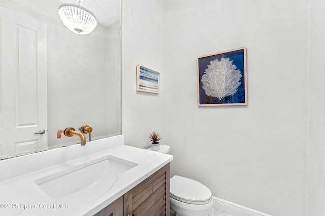
[[[165,0],[122,1],[122,132],[125,144],[149,147],[157,131],[166,142]],[[136,91],[136,65],[160,73],[159,94]]]

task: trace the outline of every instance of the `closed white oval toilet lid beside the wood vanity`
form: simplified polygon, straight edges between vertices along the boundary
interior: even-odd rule
[[[190,204],[207,204],[212,199],[212,193],[200,182],[181,176],[174,176],[170,181],[171,197]]]

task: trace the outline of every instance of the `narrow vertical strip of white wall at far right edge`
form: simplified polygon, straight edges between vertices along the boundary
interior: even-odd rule
[[[325,2],[310,0],[308,215],[325,215]]]

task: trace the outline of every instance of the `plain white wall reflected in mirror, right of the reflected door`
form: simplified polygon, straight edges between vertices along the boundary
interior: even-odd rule
[[[47,33],[49,145],[80,142],[56,138],[58,129],[67,127],[90,125],[92,138],[107,134],[106,28],[98,25],[91,34],[78,35],[59,23],[48,24]]]

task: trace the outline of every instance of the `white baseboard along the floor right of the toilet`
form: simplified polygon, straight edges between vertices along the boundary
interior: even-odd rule
[[[217,197],[213,197],[213,204],[214,208],[230,213],[234,216],[272,216]]]

